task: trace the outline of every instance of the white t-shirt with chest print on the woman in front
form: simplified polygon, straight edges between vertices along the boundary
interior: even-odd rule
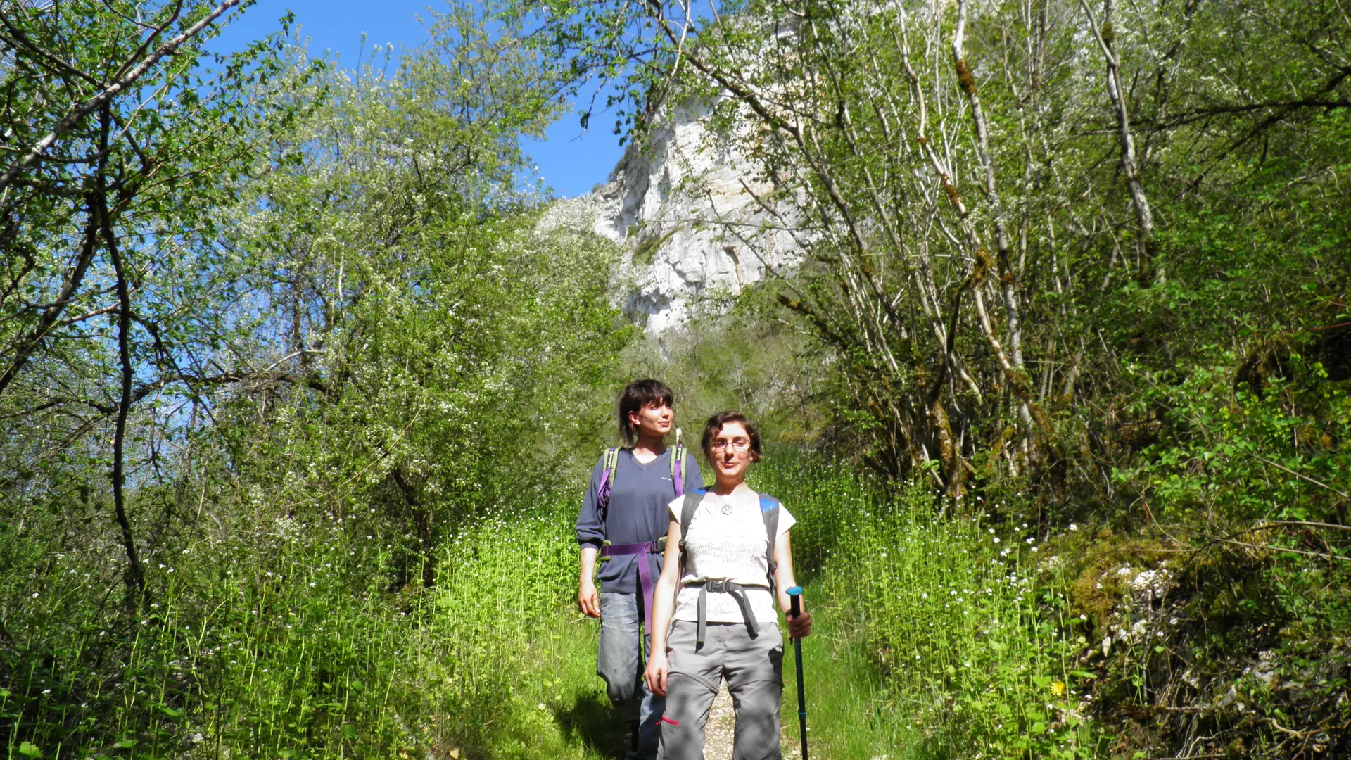
[[[670,503],[671,519],[680,522],[684,496]],[[797,522],[782,504],[778,508],[778,536]],[[746,588],[746,599],[758,622],[775,622],[778,613],[769,591],[769,565],[765,518],[761,517],[759,494],[744,485],[723,498],[704,494],[685,537],[685,575],[676,596],[676,619],[698,619],[698,588],[688,583],[731,580]],[[708,592],[708,622],[744,622],[736,598],[727,592]]]

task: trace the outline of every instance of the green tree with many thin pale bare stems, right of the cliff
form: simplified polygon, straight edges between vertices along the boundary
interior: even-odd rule
[[[748,192],[802,245],[781,303],[848,366],[870,460],[932,472],[954,498],[997,472],[1111,492],[1102,458],[1135,449],[1084,410],[1115,406],[1123,353],[1177,356],[1154,350],[1178,327],[1161,304],[1201,303],[1216,279],[1298,288],[1327,265],[1250,269],[1279,243],[1200,254],[1202,208],[1252,199],[1254,166],[1285,164],[1289,192],[1328,193],[1315,216],[1344,218],[1323,146],[1344,145],[1348,34],[1329,7],[549,8],[542,43],[615,81],[639,137],[686,99],[715,108],[755,165]],[[1283,73],[1259,62],[1271,51]],[[1183,339],[1221,338],[1215,312],[1194,316]]]

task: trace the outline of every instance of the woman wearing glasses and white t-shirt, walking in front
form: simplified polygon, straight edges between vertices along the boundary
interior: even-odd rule
[[[716,481],[670,503],[666,561],[653,599],[643,678],[666,696],[661,756],[704,757],[704,723],[725,678],[736,706],[734,757],[777,760],[784,638],[774,602],[789,610],[785,590],[796,583],[788,533],[796,521],[746,485],[751,462],[761,460],[759,433],[746,417],[711,417],[703,448]],[[808,636],[811,615],[790,618],[788,630]]]

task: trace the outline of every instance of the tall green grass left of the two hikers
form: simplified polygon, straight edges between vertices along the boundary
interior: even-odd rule
[[[465,526],[434,590],[392,587],[359,518],[259,517],[154,561],[131,617],[53,554],[7,590],[5,756],[600,756],[623,729],[567,613],[570,511]]]

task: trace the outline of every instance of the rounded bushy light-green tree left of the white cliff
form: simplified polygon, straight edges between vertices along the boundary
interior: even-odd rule
[[[558,73],[494,14],[434,14],[397,62],[315,82],[328,100],[231,222],[254,329],[201,375],[231,385],[218,431],[245,480],[377,507],[399,583],[435,583],[459,519],[557,487],[628,335],[612,246],[536,230],[519,139],[558,114]]]

